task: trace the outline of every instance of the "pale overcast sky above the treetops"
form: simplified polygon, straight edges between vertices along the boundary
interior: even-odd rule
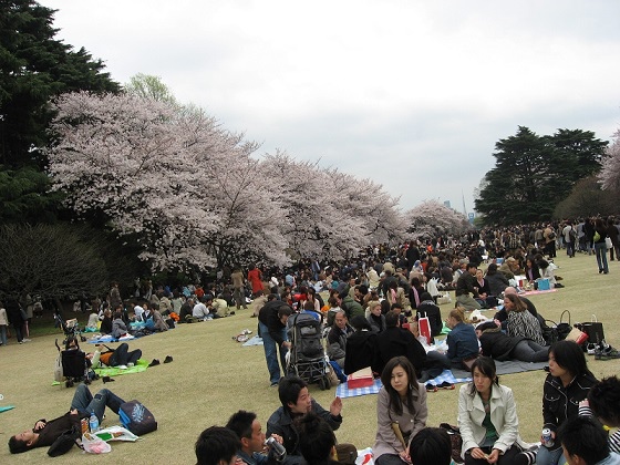
[[[154,74],[234,132],[473,211],[495,143],[620,126],[620,1],[41,0],[121,83]],[[320,193],[317,193],[320,195]]]

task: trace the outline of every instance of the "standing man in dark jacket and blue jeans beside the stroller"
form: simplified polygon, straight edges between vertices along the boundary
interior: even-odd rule
[[[292,309],[280,300],[268,301],[258,312],[258,330],[262,338],[265,359],[269,370],[269,380],[275,388],[280,381],[280,365],[278,364],[278,352],[282,371],[287,368],[287,350],[291,343],[287,341],[287,320],[292,314]]]

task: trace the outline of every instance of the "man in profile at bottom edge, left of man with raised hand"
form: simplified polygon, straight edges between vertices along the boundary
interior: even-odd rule
[[[237,451],[237,458],[244,461],[247,465],[267,465],[269,457],[262,454],[266,450],[265,433],[260,422],[256,417],[256,413],[240,410],[232,414],[226,424],[226,427],[232,431],[240,440],[241,446]],[[272,434],[280,444],[282,438],[277,434]],[[271,447],[267,447],[270,451]]]

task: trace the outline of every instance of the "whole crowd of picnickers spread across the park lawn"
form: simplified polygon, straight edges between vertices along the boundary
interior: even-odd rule
[[[327,355],[344,374],[370,366],[381,379],[373,445],[379,465],[451,462],[452,442],[446,431],[426,425],[426,392],[433,389],[428,381],[451,368],[466,370],[473,379],[458,395],[461,455],[466,464],[526,464],[534,459],[542,465],[560,464],[562,454],[567,463],[620,463],[616,455],[620,436],[608,437],[600,423],[620,425],[618,379],[596,380],[575,342],[549,345],[544,318],[531,301],[517,293],[517,288],[534,286],[541,278],[551,287],[561,286],[552,266],[561,247],[569,257],[578,251],[596,255],[599,272],[609,272],[608,254],[609,260],[614,260],[614,251],[618,257],[618,232],[612,229],[618,230],[617,223],[601,218],[484,229],[462,238],[378,246],[344,264],[301,262],[283,272],[255,265],[244,272],[236,266],[220,270],[217,280],[205,287],[154,289],[152,283],[145,288],[136,281],[128,300],[121,298],[114,283],[105,299],[93,301],[90,324],[120,338],[135,323],[166,331],[178,323],[231,317],[251,306],[269,382],[278,390],[281,406],[268,418],[266,433],[256,414],[246,411],[235,413],[226,427],[205,430],[195,446],[199,464],[234,463],[237,457],[247,464],[351,459],[354,447],[337,444],[333,433],[343,422],[342,401],[337,397],[323,409],[312,400],[304,380],[286,375],[286,354],[291,349],[288,320],[297,312],[324,323]],[[489,262],[486,270],[485,262]],[[517,282],[516,277],[525,279]],[[446,316],[447,350],[442,352],[430,347],[445,331],[436,303],[444,290],[455,291],[456,306]],[[323,300],[320,292],[326,291],[329,297]],[[465,316],[466,311],[499,303],[503,306],[494,318],[477,327]],[[20,310],[20,321],[25,321],[17,299],[6,307],[12,313],[14,308]],[[0,304],[0,330],[8,324],[2,324],[3,308]],[[428,319],[427,335],[421,334],[417,324],[422,318]],[[23,329],[23,323],[18,326]],[[7,343],[4,337],[1,342]],[[541,425],[549,430],[549,437],[541,438],[540,447],[531,450],[519,437],[513,393],[499,384],[495,360],[548,362]],[[116,406],[108,391],[94,400],[83,388],[79,392],[64,423],[93,411],[100,416],[102,402],[103,409],[106,403],[113,411]],[[50,427],[54,422],[38,422],[34,428],[11,437],[11,452],[46,445],[60,428]],[[579,427],[588,434],[575,437]]]

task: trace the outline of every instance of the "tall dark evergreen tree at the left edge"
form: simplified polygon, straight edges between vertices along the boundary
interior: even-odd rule
[[[32,0],[0,0],[0,220],[42,219],[54,211],[46,159],[50,101],[61,93],[118,92],[83,48],[54,39],[54,10]]]

